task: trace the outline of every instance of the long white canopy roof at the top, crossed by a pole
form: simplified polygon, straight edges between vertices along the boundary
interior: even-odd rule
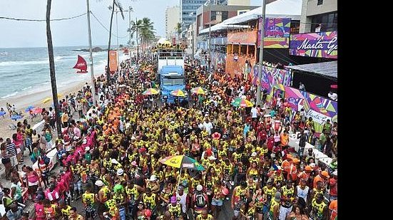
[[[265,14],[267,18],[291,18],[292,20],[300,20],[300,14],[302,14],[302,0],[278,0],[270,4],[266,4]],[[223,23],[244,23],[258,19],[261,16],[262,6],[227,19],[223,21]]]

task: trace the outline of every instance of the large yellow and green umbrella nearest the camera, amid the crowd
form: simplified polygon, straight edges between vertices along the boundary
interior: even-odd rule
[[[196,169],[199,171],[205,170],[202,164],[198,163],[198,161],[196,161],[195,159],[187,157],[185,155],[174,155],[165,157],[164,159],[160,159],[159,162],[161,162],[162,164],[166,164],[170,167],[180,168],[180,174],[183,167],[188,169]],[[178,186],[179,183],[180,182],[178,182]]]

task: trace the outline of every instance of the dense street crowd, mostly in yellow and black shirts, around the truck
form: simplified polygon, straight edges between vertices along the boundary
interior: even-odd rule
[[[15,172],[15,162],[11,166],[11,189],[3,188],[1,199],[9,219],[21,219],[21,185],[29,187],[33,218],[40,220],[211,220],[229,211],[233,219],[337,219],[337,160],[325,166],[312,149],[302,152],[314,135],[313,123],[301,112],[291,112],[280,98],[263,107],[235,107],[231,102],[237,97],[255,103],[256,88],[223,70],[208,78],[198,61],[185,69],[187,88],[201,86],[207,94],[192,95],[186,108],[149,105],[141,93],[155,85],[153,65],[147,60],[139,68],[122,65],[113,75],[116,82],[98,78],[96,105],[88,87],[75,101],[68,102],[73,96],[62,100],[63,133],[54,141],[61,172],[45,172],[43,152],[48,146],[34,147],[35,136],[31,137],[31,155],[39,160],[40,171],[23,167],[25,181]],[[87,104],[74,120],[68,113],[79,109],[67,103],[78,102]],[[334,156],[337,125],[324,126],[322,138],[315,142]],[[41,137],[51,129],[49,117]],[[297,131],[299,151],[289,146],[289,135]],[[28,132],[20,132],[25,140],[18,145],[18,134],[7,139],[1,144],[2,156],[16,156],[23,142],[28,146]],[[180,172],[161,163],[173,155],[191,157],[204,170]],[[76,209],[78,201],[84,210]]]

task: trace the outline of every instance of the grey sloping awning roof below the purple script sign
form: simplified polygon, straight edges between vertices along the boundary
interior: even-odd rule
[[[325,75],[329,78],[337,79],[337,61],[322,62],[322,63],[308,63],[297,66],[286,66],[292,70],[301,70],[319,75]]]

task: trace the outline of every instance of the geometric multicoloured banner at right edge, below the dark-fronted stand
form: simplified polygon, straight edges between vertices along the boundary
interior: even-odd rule
[[[307,117],[312,117],[315,121],[316,132],[322,132],[322,125],[326,120],[337,121],[337,102],[335,101],[290,87],[285,87],[285,99],[292,110],[305,109]]]

